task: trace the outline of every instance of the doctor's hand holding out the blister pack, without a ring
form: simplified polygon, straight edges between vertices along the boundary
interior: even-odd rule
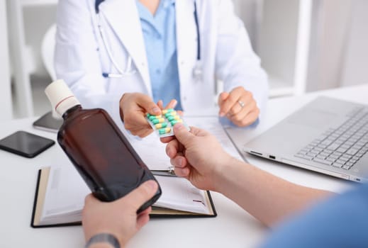
[[[161,109],[145,94],[126,93],[120,100],[120,116],[126,130],[132,135],[145,137],[153,132],[145,114],[160,115]]]

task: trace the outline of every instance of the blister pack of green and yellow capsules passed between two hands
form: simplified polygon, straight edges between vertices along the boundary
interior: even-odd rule
[[[161,115],[151,115],[147,113],[145,117],[159,137],[173,136],[173,127],[177,123],[182,123],[187,130],[190,130],[182,116],[180,116],[173,108],[164,109],[161,112]]]

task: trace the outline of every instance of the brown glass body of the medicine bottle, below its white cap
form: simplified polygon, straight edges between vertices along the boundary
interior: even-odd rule
[[[57,141],[94,196],[101,201],[114,201],[144,181],[155,180],[106,111],[71,105],[74,106],[62,115],[64,123]],[[160,195],[159,187],[138,212],[155,203]]]

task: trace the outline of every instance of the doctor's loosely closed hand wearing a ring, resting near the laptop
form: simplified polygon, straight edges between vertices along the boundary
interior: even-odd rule
[[[218,96],[220,116],[225,116],[239,127],[245,127],[257,120],[260,109],[250,91],[238,86],[230,93],[223,92]]]

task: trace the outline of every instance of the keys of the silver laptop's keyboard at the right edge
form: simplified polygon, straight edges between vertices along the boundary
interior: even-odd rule
[[[329,128],[295,157],[350,169],[368,151],[368,108],[357,108],[339,128]]]

